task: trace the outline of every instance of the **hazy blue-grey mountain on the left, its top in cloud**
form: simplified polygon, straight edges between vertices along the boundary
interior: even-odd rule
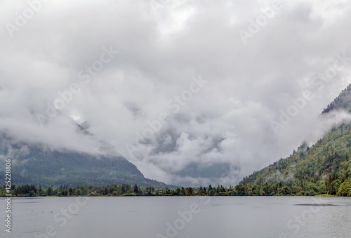
[[[72,121],[73,123],[73,121]],[[11,159],[11,183],[41,187],[69,187],[138,184],[145,187],[174,187],[150,180],[136,166],[114,151],[114,147],[97,140],[86,128],[75,124],[77,133],[93,141],[97,153],[53,148],[44,143],[14,140],[8,132],[0,132],[0,164],[5,171],[5,159]],[[5,180],[0,173],[0,180]]]

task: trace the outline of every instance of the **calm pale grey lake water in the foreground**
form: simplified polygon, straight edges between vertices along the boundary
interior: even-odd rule
[[[88,199],[15,198],[11,234],[1,225],[0,237],[351,237],[351,198]],[[0,206],[5,224],[4,198]]]

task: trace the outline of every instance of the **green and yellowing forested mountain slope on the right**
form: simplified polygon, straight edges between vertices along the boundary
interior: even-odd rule
[[[351,112],[351,84],[323,110]],[[338,194],[351,196],[351,124],[343,120],[308,147],[302,143],[286,159],[279,159],[246,176],[239,185],[260,187],[259,194]]]

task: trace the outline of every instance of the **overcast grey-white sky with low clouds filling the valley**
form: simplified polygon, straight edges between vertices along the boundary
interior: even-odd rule
[[[194,167],[234,185],[314,143],[351,83],[347,0],[3,0],[0,20],[0,130],[93,152],[55,105],[177,185],[208,185]]]

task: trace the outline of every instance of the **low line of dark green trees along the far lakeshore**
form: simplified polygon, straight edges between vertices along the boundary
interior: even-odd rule
[[[334,182],[334,181],[333,181]],[[0,189],[0,197],[6,196],[5,186]],[[338,196],[351,197],[351,182],[345,180],[343,183],[337,181],[330,183],[328,180],[323,185],[309,185],[301,187],[292,183],[273,183],[265,185],[236,185],[234,187],[142,187],[138,185],[111,185],[105,187],[77,186],[68,187],[35,187],[34,185],[12,185],[12,197],[72,197],[72,196]]]

